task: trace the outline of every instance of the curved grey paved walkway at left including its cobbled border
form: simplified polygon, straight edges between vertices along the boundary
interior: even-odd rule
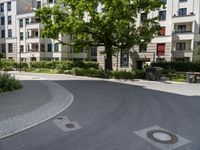
[[[0,139],[54,117],[73,101],[59,84],[29,78],[20,78],[22,90],[0,94]]]

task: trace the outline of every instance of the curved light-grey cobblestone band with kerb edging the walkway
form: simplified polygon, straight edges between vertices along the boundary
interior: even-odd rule
[[[51,93],[51,101],[38,109],[23,115],[0,121],[0,139],[39,125],[68,108],[73,95],[61,85],[51,81],[41,81]]]

